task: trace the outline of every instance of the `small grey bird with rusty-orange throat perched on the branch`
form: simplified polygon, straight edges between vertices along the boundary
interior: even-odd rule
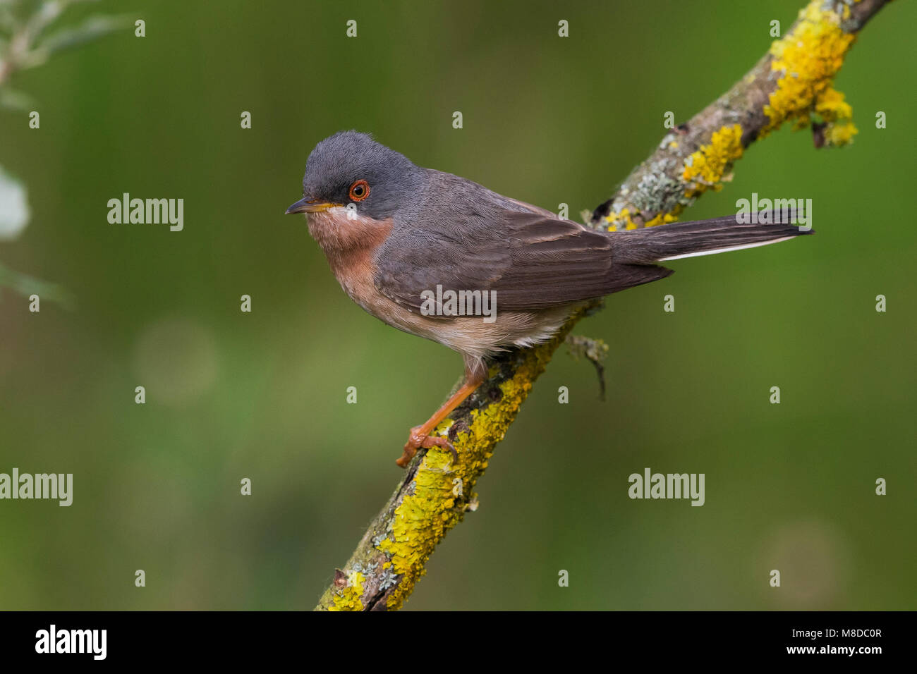
[[[402,468],[421,447],[447,448],[456,456],[433,432],[485,381],[488,361],[554,337],[584,304],[666,278],[672,270],[662,261],[812,233],[790,224],[745,224],[735,215],[602,231],[417,166],[355,130],[315,145],[305,164],[303,198],[286,214],[305,214],[309,234],[356,304],[463,359],[458,390],[411,428],[396,460]],[[459,301],[450,303],[455,297]],[[493,305],[484,307],[488,299]]]

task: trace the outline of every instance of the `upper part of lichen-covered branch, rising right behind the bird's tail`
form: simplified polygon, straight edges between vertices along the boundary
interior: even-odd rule
[[[852,110],[834,89],[856,34],[888,0],[812,0],[782,38],[725,94],[673,128],[613,196],[583,217],[610,231],[674,222],[758,138],[789,122],[812,128],[816,148],[856,134]]]

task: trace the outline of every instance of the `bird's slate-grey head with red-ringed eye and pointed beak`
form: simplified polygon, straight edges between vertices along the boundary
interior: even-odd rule
[[[338,131],[309,154],[303,199],[287,213],[317,213],[355,204],[360,215],[391,217],[422,182],[424,169],[369,134]]]

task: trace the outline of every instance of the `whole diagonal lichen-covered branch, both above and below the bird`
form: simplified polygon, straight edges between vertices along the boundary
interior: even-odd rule
[[[713,104],[672,129],[613,196],[587,212],[609,230],[671,222],[707,190],[729,179],[735,160],[756,139],[790,122],[811,127],[816,147],[840,146],[856,133],[834,75],[870,17],[887,0],[813,0],[768,54]],[[599,305],[573,316],[551,342],[506,354],[481,388],[437,428],[458,451],[421,450],[373,520],[317,610],[398,609],[425,573],[447,531],[477,508],[475,482],[519,406],[569,329]]]

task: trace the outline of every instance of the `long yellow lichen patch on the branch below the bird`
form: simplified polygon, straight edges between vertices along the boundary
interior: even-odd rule
[[[499,401],[472,411],[468,430],[458,433],[454,442],[458,462],[447,449],[436,447],[428,450],[421,460],[412,489],[395,509],[392,533],[377,546],[391,561],[393,572],[402,576],[386,601],[389,609],[401,608],[414,583],[425,574],[426,560],[436,544],[462,520],[466,509],[473,510],[472,504],[477,503],[477,494],[471,492],[475,481],[487,468],[493,447],[503,439],[531,391],[532,382],[545,370],[563,337],[559,335],[547,344],[525,351],[523,363],[512,379],[500,384]],[[447,419],[436,433],[445,433],[452,423]],[[463,485],[461,497],[453,492],[456,478]]]

